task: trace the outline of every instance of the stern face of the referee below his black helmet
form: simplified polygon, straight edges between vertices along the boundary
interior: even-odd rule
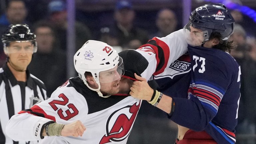
[[[31,42],[11,42],[7,50],[9,63],[16,70],[26,70],[32,59],[33,44]]]

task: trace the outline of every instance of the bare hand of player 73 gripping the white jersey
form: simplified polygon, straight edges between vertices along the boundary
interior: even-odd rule
[[[134,76],[139,81],[133,82],[130,95],[134,98],[150,101],[154,90],[148,85],[145,78],[138,76],[136,73],[134,73]]]

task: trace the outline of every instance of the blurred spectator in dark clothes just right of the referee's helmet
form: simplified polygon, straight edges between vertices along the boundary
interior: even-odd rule
[[[37,40],[37,53],[29,65],[30,72],[41,79],[46,86],[47,96],[66,80],[66,55],[56,44],[56,36],[48,22],[34,25]]]

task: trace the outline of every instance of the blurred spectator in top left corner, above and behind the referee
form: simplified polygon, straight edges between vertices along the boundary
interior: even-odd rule
[[[10,0],[6,5],[5,14],[0,17],[0,35],[4,34],[10,24],[26,23],[27,8],[23,0]],[[3,52],[3,44],[0,42],[0,67],[5,63],[6,56]]]

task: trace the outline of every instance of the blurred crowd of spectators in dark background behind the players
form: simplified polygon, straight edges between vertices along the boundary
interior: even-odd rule
[[[40,2],[40,1],[38,1]],[[65,1],[53,0],[42,3],[34,12],[28,8],[26,1],[10,0],[6,2],[5,12],[0,16],[0,34],[4,33],[9,24],[26,23],[33,27],[36,34],[38,51],[33,55],[29,71],[42,80],[47,88],[47,95],[67,80],[67,8]],[[46,10],[45,14],[40,11]],[[36,15],[36,18],[31,18]],[[152,37],[165,37],[181,29],[177,13],[169,8],[159,9],[155,16],[154,30],[146,30],[135,25],[136,11],[132,3],[126,0],[117,1],[113,9],[113,24],[104,25],[94,30],[83,22],[75,22],[75,51],[90,39],[100,40],[122,51],[137,49]],[[256,133],[256,38],[253,26],[243,19],[243,14],[232,11],[236,26],[230,40],[237,44],[231,55],[241,66],[241,98],[239,103],[238,126],[236,134]],[[30,21],[29,21],[30,20]],[[145,24],[147,25],[147,24]],[[153,33],[152,33],[153,31]],[[0,44],[0,67],[6,62]],[[76,76],[76,75],[74,75]],[[154,83],[153,83],[154,85]],[[135,122],[128,143],[170,143],[176,138],[176,126],[166,118],[161,110],[143,102],[138,118]],[[255,137],[244,140],[237,139],[237,143],[255,144]]]

